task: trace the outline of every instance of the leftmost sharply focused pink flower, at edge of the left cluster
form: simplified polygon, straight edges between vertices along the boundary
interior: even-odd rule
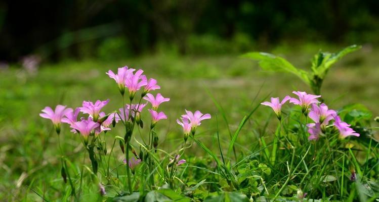
[[[42,112],[43,113],[40,113],[39,116],[42,118],[45,118],[45,119],[50,119],[54,124],[54,128],[55,128],[57,134],[59,135],[61,132],[62,118],[66,114],[72,112],[72,109],[71,108],[66,109],[66,106],[57,105],[57,107],[55,107],[54,111],[53,111],[53,109],[51,109],[51,107],[45,107],[45,109],[43,109]]]

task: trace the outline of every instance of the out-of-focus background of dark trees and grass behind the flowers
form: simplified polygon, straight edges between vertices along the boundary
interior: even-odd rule
[[[0,41],[0,171],[6,173],[0,198],[25,193],[38,198],[25,184],[38,190],[61,186],[57,138],[40,110],[106,98],[106,112],[118,109],[117,85],[105,72],[125,65],[156,78],[159,92],[171,98],[160,108],[169,119],[157,125],[159,144],[168,150],[182,141],[175,120],[184,109],[214,117],[199,128],[204,142],[215,138],[218,114],[222,144],[228,144],[227,125],[212,97],[233,133],[264,97],[311,92],[297,77],[262,71],[257,62],[239,57],[246,52],[273,53],[309,70],[319,50],[362,45],[332,67],[321,92],[332,109],[362,103],[379,114],[377,0],[6,0],[0,2]],[[148,114],[142,116],[149,122]],[[272,134],[275,127],[266,126],[273,118],[271,109],[260,108],[238,137],[238,148],[248,150],[242,142]],[[69,137],[66,150],[74,161],[80,140],[66,126],[62,134]],[[109,141],[122,136],[118,129],[107,134]]]

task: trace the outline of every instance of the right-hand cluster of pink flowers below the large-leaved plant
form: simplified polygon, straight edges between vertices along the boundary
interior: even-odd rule
[[[271,107],[279,121],[281,120],[281,107],[287,100],[289,100],[289,103],[301,106],[302,113],[314,121],[314,123],[307,123],[308,133],[310,134],[308,137],[309,140],[319,139],[319,137],[325,133],[331,121],[333,121],[332,126],[339,130],[341,138],[350,135],[359,136],[358,133],[350,128],[349,124],[341,121],[336,111],[329,110],[328,106],[324,103],[319,104],[320,102],[317,98],[321,97],[321,95],[308,94],[302,91],[293,91],[292,93],[296,94],[299,98],[293,98],[287,95],[280,102],[278,97],[271,97],[271,102],[261,104]]]

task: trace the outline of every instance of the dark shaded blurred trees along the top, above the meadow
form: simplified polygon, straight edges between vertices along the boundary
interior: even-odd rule
[[[0,60],[230,54],[288,42],[379,42],[379,2],[2,1]]]

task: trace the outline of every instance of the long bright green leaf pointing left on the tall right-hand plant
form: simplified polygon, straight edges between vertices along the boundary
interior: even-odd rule
[[[259,65],[264,70],[275,72],[289,72],[301,78],[308,85],[311,84],[310,74],[308,72],[294,67],[291,63],[282,57],[262,52],[251,52],[242,55],[242,57],[259,61]]]

